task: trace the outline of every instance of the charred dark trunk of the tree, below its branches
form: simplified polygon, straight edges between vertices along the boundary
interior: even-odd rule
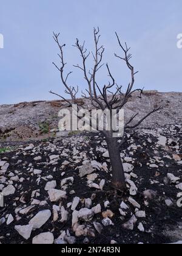
[[[119,190],[126,190],[123,163],[121,162],[120,149],[116,138],[107,137],[107,148],[112,166],[112,185]]]

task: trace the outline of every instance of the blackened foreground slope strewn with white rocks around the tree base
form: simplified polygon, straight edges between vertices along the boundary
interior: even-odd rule
[[[128,137],[121,151],[126,194],[110,188],[110,160],[99,134],[9,143],[15,148],[0,154],[0,243],[182,240],[181,125],[141,129]]]

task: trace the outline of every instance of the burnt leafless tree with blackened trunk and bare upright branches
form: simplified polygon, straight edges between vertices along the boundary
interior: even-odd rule
[[[125,43],[124,46],[121,44],[120,38],[116,34],[116,38],[118,40],[118,43],[120,45],[121,51],[123,52],[123,55],[117,55],[115,54],[115,57],[124,61],[126,63],[127,68],[130,71],[130,82],[127,86],[127,90],[125,93],[122,92],[122,86],[118,86],[115,82],[114,77],[112,76],[112,73],[110,71],[109,65],[106,65],[107,73],[110,77],[110,82],[107,85],[99,86],[96,82],[96,74],[98,73],[99,69],[104,65],[102,63],[103,60],[103,54],[104,54],[104,47],[99,46],[99,38],[101,35],[99,34],[99,28],[93,30],[93,36],[94,36],[94,42],[95,42],[95,51],[94,52],[87,52],[87,49],[85,48],[85,42],[83,44],[79,43],[79,40],[76,39],[76,43],[73,45],[75,48],[78,49],[79,54],[81,55],[82,64],[81,65],[73,65],[75,68],[80,69],[84,74],[84,79],[87,82],[88,88],[86,90],[86,93],[83,93],[83,98],[89,98],[92,102],[92,106],[96,109],[100,110],[106,110],[109,109],[110,113],[113,109],[116,110],[118,113],[121,108],[124,107],[124,105],[127,104],[128,99],[130,96],[132,96],[133,93],[138,91],[141,94],[143,94],[143,89],[133,89],[134,83],[135,83],[135,75],[138,73],[138,71],[135,71],[134,67],[130,63],[130,59],[132,58],[132,55],[129,53],[130,48],[128,48],[127,44]],[[53,93],[50,91],[50,93],[55,94],[59,96],[61,99],[69,103],[71,106],[72,104],[78,104],[78,98],[76,97],[76,94],[78,93],[78,87],[72,87],[68,84],[68,78],[72,72],[67,73],[64,75],[64,68],[66,66],[66,62],[64,61],[64,52],[63,49],[66,46],[65,44],[61,44],[59,41],[59,34],[53,34],[53,38],[58,45],[59,48],[59,59],[61,65],[55,65],[55,67],[58,69],[60,75],[61,75],[61,82],[66,88],[65,93],[69,94],[71,99],[66,99],[63,96]],[[92,71],[87,71],[87,59],[89,56],[92,55],[94,60],[94,65],[92,68]],[[113,92],[114,91],[114,92]],[[83,107],[83,106],[82,106]],[[120,138],[120,143],[118,143],[118,138],[114,138],[112,136],[113,130],[103,130],[104,137],[106,138],[107,147],[109,151],[110,156],[110,163],[112,166],[112,185],[118,190],[125,190],[126,189],[126,182],[124,177],[124,169],[123,164],[121,162],[120,157],[120,149],[121,146],[123,146],[124,142],[127,140],[126,132],[127,130],[135,129],[137,126],[139,126],[144,119],[146,119],[149,115],[152,113],[157,112],[160,110],[160,108],[153,108],[149,113],[147,113],[146,116],[144,116],[140,121],[137,121],[136,123],[135,118],[138,116],[138,113],[133,115],[131,118],[128,118],[127,121],[124,123],[124,133],[123,136]]]

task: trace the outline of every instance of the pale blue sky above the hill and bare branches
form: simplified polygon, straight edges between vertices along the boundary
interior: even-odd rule
[[[127,41],[132,63],[140,71],[136,87],[146,90],[181,91],[182,49],[177,35],[182,33],[181,0],[0,0],[0,104],[55,99],[49,90],[62,94],[64,88],[52,65],[58,60],[52,38],[61,32],[66,43],[67,70],[73,70],[71,85],[86,87],[82,74],[72,67],[79,55],[72,44],[75,38],[86,40],[93,48],[93,26],[101,29],[101,43],[118,84],[127,84],[125,66],[113,53],[120,53],[115,31]],[[92,64],[92,62],[90,62]],[[105,68],[98,76],[106,82]]]

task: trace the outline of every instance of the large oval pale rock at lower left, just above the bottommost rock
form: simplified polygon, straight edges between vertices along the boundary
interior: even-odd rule
[[[51,216],[50,210],[43,210],[41,212],[38,212],[30,221],[29,224],[33,225],[33,229],[40,229],[45,222],[48,221],[48,219]]]

